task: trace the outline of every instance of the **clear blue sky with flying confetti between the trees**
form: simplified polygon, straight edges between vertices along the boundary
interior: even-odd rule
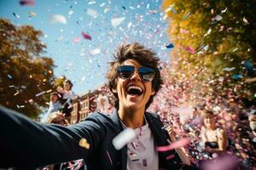
[[[166,28],[170,21],[160,0],[26,1],[34,3],[1,0],[0,17],[16,26],[43,31],[40,40],[47,48],[41,56],[54,59],[55,77],[72,80],[76,94],[86,94],[107,82],[108,62],[121,42],[140,42],[152,48],[162,62],[169,60]]]

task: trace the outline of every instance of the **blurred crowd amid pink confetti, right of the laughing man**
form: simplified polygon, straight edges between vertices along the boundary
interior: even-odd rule
[[[191,88],[195,87],[189,81],[172,82],[166,78],[149,111],[160,115],[177,140],[189,137],[191,143],[185,150],[196,165],[235,156],[231,160],[240,169],[255,169],[256,106],[244,106],[232,90],[218,96],[214,92],[203,95],[206,89],[201,89],[202,95],[191,96],[187,93]],[[217,169],[227,169],[219,166]]]

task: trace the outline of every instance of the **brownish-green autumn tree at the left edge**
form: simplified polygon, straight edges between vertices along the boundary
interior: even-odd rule
[[[35,118],[54,89],[53,59],[41,56],[42,31],[0,19],[0,104]]]

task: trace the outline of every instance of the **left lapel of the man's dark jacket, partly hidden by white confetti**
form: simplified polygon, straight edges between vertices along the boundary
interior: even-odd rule
[[[118,133],[124,130],[124,127],[122,126],[122,123],[119,120],[119,115],[117,111],[113,111],[111,114],[111,119],[112,121],[116,124],[118,127]],[[120,150],[121,151],[121,156],[122,156],[122,170],[126,170],[127,166],[127,145]]]

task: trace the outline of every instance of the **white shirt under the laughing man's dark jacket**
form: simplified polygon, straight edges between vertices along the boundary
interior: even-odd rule
[[[143,127],[135,129],[137,137],[127,144],[127,170],[159,169],[154,137],[146,119],[145,122]]]

